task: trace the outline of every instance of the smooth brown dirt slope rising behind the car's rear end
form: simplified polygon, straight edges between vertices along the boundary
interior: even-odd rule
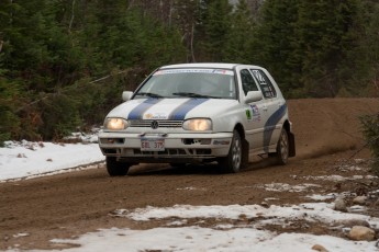
[[[315,158],[361,148],[359,116],[379,112],[379,99],[288,101],[298,158]]]

